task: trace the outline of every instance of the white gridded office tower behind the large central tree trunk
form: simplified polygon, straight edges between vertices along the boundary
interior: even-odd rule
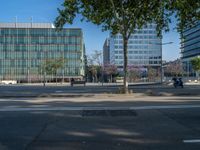
[[[110,63],[123,69],[123,38],[122,35],[110,34]],[[160,68],[162,61],[162,40],[157,36],[156,25],[148,24],[136,29],[128,41],[128,65]]]

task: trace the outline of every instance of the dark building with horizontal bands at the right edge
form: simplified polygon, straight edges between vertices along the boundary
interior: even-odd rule
[[[181,59],[184,71],[188,76],[195,75],[190,63],[194,57],[200,57],[200,21],[193,27],[186,29],[182,34]]]

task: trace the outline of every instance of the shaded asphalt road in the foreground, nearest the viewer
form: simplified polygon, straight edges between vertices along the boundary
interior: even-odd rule
[[[0,99],[0,149],[199,150],[200,99]]]

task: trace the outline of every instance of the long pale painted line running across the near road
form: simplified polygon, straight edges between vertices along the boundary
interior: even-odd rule
[[[200,105],[166,105],[166,106],[135,106],[135,107],[11,107],[0,108],[0,112],[6,111],[82,111],[82,110],[156,110],[156,109],[191,109],[200,108]]]

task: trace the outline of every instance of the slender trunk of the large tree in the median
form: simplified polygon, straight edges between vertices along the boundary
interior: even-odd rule
[[[123,85],[124,87],[123,87],[123,92],[126,94],[126,93],[128,93],[128,82],[127,82],[128,38],[125,36],[123,37],[123,46],[124,46],[124,85]]]

